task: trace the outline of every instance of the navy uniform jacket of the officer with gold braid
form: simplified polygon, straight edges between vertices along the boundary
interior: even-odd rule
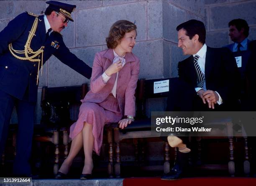
[[[0,32],[0,90],[18,99],[23,99],[24,94],[28,91],[28,100],[34,103],[37,100],[38,86],[36,85],[36,79],[38,62],[15,58],[10,53],[8,44],[12,43],[15,50],[24,50],[24,45],[28,40],[29,31],[35,19],[36,17],[33,15],[22,13],[11,20]],[[52,42],[57,43],[59,47],[52,46]],[[46,40],[44,15],[38,17],[36,33],[30,45],[33,51],[38,50],[41,46],[45,46],[43,63],[53,54],[62,63],[68,65],[78,73],[87,78],[91,77],[92,68],[69,51],[63,42],[61,34],[53,32]],[[24,54],[18,55],[25,57]],[[60,73],[60,70],[55,73]]]

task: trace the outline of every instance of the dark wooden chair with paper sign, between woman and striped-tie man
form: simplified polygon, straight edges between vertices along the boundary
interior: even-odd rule
[[[164,79],[153,79],[146,80],[140,79],[138,81],[136,90],[136,120],[128,125],[124,129],[118,128],[118,123],[111,124],[112,141],[110,140],[110,151],[115,152],[115,162],[113,162],[113,153],[110,154],[110,162],[113,163],[110,166],[110,172],[115,173],[116,178],[120,178],[121,170],[121,151],[120,142],[123,139],[133,139],[133,144],[135,148],[135,159],[138,160],[138,143],[139,139],[144,138],[160,138],[160,133],[152,133],[151,131],[151,119],[146,116],[147,102],[150,98],[165,98],[168,96],[168,92],[154,93],[154,82],[161,80],[169,80],[170,78]],[[113,150],[113,144],[115,144],[115,150]],[[168,173],[170,170],[169,164],[169,144],[167,141],[164,143],[164,166],[144,168],[144,170],[164,170],[164,173]],[[142,152],[142,156],[144,151]]]

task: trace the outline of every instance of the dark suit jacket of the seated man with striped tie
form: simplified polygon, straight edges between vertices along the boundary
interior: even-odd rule
[[[197,87],[197,73],[193,56],[178,64],[179,78],[194,88]],[[205,83],[207,90],[217,91],[225,108],[233,108],[238,102],[239,73],[236,60],[228,48],[207,46],[205,58]]]

